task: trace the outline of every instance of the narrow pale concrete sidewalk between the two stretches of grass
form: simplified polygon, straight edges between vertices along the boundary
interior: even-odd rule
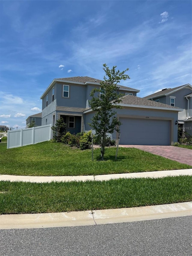
[[[119,178],[161,178],[166,176],[180,176],[192,175],[192,169],[182,170],[166,170],[140,173],[120,173],[120,174],[106,174],[106,175],[89,175],[89,176],[15,176],[15,175],[0,175],[0,180],[23,181],[23,182],[67,182],[67,181],[102,181]]]

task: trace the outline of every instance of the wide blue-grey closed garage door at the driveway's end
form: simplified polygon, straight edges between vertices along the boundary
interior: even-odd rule
[[[170,145],[170,121],[120,118],[120,142],[124,145]]]

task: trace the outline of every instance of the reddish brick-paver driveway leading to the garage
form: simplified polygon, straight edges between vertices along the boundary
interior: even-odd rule
[[[137,148],[155,155],[161,155],[183,164],[192,165],[192,150],[174,146],[119,145],[125,148]]]

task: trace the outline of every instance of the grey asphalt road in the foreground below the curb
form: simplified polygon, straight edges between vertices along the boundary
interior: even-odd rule
[[[0,255],[191,256],[192,217],[0,230]]]

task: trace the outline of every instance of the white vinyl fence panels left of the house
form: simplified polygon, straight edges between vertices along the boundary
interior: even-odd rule
[[[51,132],[51,125],[7,131],[7,149],[50,140]]]

